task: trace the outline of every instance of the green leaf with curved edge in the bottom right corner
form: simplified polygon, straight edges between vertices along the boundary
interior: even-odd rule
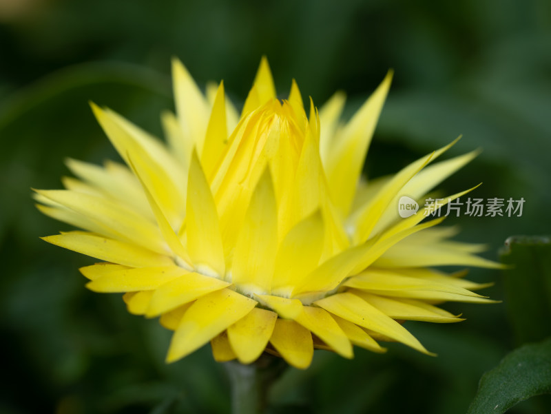
[[[551,338],[509,353],[480,380],[467,414],[505,413],[530,397],[551,393]]]

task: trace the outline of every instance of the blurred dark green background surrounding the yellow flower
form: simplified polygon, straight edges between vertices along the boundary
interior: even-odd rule
[[[169,331],[129,315],[119,295],[87,291],[77,268],[93,260],[39,240],[68,227],[34,209],[30,187],[61,187],[68,156],[118,159],[88,101],[160,134],[171,56],[201,86],[224,79],[242,105],[262,54],[282,96],[292,78],[317,105],[344,90],[346,114],[393,68],[366,174],[463,134],[452,155],[484,152],[444,192],[484,182],[473,196],[526,203],[519,218],[448,219],[459,238],[487,242],[497,259],[508,236],[551,232],[548,0],[0,0],[0,413],[229,412],[209,346],[166,365]],[[499,271],[470,277],[504,298]],[[507,302],[446,309],[466,322],[408,323],[438,358],[394,344],[386,355],[356,349],[351,361],[317,351],[271,402],[285,413],[465,413],[481,374],[519,340]],[[510,412],[549,413],[550,400]]]

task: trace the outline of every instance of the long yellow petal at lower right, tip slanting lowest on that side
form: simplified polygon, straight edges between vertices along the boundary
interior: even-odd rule
[[[429,353],[401,324],[352,293],[337,293],[314,303],[360,327],[382,333],[422,353]]]

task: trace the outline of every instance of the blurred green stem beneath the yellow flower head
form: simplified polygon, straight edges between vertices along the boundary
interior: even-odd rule
[[[262,414],[267,408],[269,388],[287,364],[281,358],[264,354],[253,364],[230,361],[225,366],[231,382],[231,412]]]

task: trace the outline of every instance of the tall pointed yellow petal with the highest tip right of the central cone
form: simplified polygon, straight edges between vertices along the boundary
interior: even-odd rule
[[[392,76],[393,72],[389,71],[377,90],[346,124],[328,157],[326,172],[332,200],[343,216],[349,213]]]

